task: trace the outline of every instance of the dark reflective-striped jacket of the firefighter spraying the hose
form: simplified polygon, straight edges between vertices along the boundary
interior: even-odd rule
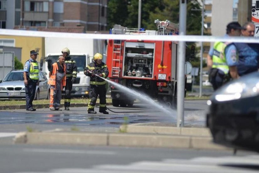
[[[95,76],[91,73],[88,73],[87,70],[92,71],[94,74],[103,74],[103,78],[107,78],[109,75],[109,70],[107,65],[102,62],[101,64],[97,64],[95,62],[91,62],[86,68],[84,68],[84,74],[86,76],[90,76],[90,84],[92,85],[103,85],[106,84],[106,81],[98,76]]]

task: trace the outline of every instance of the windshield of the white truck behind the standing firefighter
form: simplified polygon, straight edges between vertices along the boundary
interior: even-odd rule
[[[84,71],[86,67],[86,56],[85,55],[70,55],[76,61],[77,71],[81,72]],[[48,56],[48,69],[50,70],[51,65],[54,62],[57,62],[58,55],[55,56]]]

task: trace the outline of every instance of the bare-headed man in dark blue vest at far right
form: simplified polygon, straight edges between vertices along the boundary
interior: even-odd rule
[[[241,30],[243,37],[253,37],[255,25],[247,22]],[[238,50],[237,71],[239,76],[258,71],[259,44],[258,43],[235,43]]]

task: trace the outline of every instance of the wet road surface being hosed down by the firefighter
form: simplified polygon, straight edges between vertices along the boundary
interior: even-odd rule
[[[50,111],[48,108],[35,112],[25,110],[6,110],[0,114],[0,132],[51,130],[55,128],[78,128],[80,131],[114,132],[123,124],[161,122],[175,124],[175,110],[170,115],[152,109],[147,104],[137,103],[132,107],[122,108],[107,106],[109,115],[88,114],[86,107],[71,107],[70,111]],[[99,108],[95,108],[98,111]],[[185,102],[185,125],[205,126],[206,100]]]

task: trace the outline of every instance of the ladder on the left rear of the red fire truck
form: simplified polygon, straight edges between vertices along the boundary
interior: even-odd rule
[[[115,24],[112,34],[125,34],[127,27]],[[118,59],[119,57],[119,59]],[[116,64],[119,64],[116,66]],[[112,48],[111,77],[120,77],[121,65],[121,40],[114,40]]]

